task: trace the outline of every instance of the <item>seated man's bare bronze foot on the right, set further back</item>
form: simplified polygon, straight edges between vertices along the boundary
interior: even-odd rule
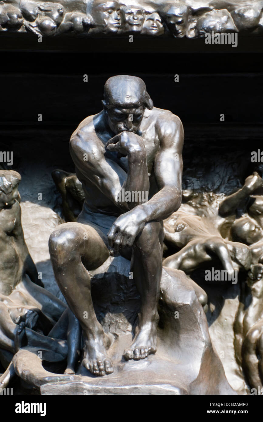
[[[156,352],[157,330],[154,323],[149,323],[141,329],[133,339],[132,344],[124,351],[126,360],[145,359],[149,354]]]

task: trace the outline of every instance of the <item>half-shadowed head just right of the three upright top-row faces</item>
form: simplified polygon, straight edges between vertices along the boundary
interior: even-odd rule
[[[185,5],[172,6],[165,13],[168,29],[177,37],[183,37],[187,24],[188,9]]]

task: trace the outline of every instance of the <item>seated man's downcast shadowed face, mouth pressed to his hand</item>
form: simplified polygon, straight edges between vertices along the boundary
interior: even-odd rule
[[[114,133],[136,133],[144,116],[145,106],[134,105],[129,108],[111,106],[107,110],[108,124]]]

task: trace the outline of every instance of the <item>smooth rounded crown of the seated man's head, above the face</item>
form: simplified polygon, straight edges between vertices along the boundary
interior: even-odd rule
[[[104,87],[103,105],[107,108],[145,106],[152,110],[153,103],[141,78],[136,76],[112,76]]]

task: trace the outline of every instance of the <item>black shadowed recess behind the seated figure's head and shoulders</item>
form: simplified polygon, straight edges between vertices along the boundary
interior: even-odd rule
[[[234,50],[234,49],[232,49]],[[106,79],[141,76],[156,107],[169,109],[185,129],[184,161],[194,144],[211,160],[217,150],[250,152],[263,136],[259,53],[101,53],[1,51],[0,150],[73,170],[68,141],[86,116],[101,110]],[[88,82],[83,75],[88,75]],[[179,75],[179,82],[174,75]],[[38,114],[43,121],[38,122]],[[225,122],[220,122],[220,114]],[[49,152],[44,153],[48,147]],[[192,153],[190,152],[192,151]],[[186,167],[185,167],[186,169]]]

